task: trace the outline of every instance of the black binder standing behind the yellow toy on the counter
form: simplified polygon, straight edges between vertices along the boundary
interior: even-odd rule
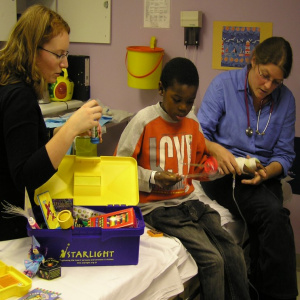
[[[86,55],[68,56],[68,75],[74,82],[74,92],[72,99],[90,99],[90,57]]]

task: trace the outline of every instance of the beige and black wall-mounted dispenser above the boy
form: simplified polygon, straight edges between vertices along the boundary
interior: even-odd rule
[[[202,27],[201,11],[180,12],[180,25],[184,27],[184,45],[199,46],[200,28]]]

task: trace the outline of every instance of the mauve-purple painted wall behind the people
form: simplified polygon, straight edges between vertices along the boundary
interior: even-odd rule
[[[300,1],[289,0],[171,0],[171,26],[169,29],[143,28],[142,0],[112,1],[111,44],[79,44],[70,46],[71,54],[91,57],[91,97],[100,99],[114,109],[137,112],[156,103],[156,90],[138,90],[127,86],[125,54],[127,46],[148,46],[151,36],[157,38],[157,47],[165,49],[164,62],[175,56],[192,59],[199,71],[200,88],[196,100],[198,108],[210,81],[221,71],[212,69],[213,21],[272,22],[273,35],[285,37],[294,51],[294,65],[291,76],[285,81],[300,99]],[[200,47],[185,50],[183,28],[180,27],[180,11],[201,10],[203,27],[200,33]],[[296,123],[296,135],[300,136],[300,106]],[[291,219],[295,231],[297,253],[300,253],[300,196],[294,195]]]

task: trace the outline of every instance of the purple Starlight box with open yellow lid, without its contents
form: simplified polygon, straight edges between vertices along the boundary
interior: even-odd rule
[[[140,236],[145,223],[140,209],[137,163],[132,157],[78,157],[67,155],[58,172],[35,191],[52,199],[73,199],[73,205],[108,214],[133,208],[134,228],[101,227],[34,230],[28,235],[48,247],[48,257],[61,266],[134,265],[138,263]]]

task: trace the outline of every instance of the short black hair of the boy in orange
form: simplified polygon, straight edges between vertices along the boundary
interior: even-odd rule
[[[192,61],[184,57],[176,57],[166,63],[160,81],[164,90],[173,86],[174,82],[198,87],[199,74]]]

